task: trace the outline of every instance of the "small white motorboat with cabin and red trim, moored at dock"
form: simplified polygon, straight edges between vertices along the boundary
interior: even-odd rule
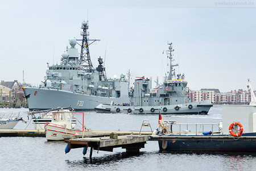
[[[75,130],[72,127],[72,114],[82,114],[82,129]],[[52,121],[46,123],[44,126],[46,130],[46,138],[50,141],[56,140],[64,140],[64,137],[72,137],[89,132],[91,130],[87,130],[84,127],[84,112],[73,112],[70,110],[59,110],[59,111],[52,111]]]

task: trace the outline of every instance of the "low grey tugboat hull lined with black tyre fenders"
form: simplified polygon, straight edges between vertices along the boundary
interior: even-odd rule
[[[161,114],[208,114],[212,106],[210,101],[166,106],[119,106],[101,104],[95,107],[95,110],[101,113],[159,114],[161,112]]]

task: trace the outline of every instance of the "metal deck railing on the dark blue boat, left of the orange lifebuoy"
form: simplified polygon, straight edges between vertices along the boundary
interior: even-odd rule
[[[173,131],[174,130],[174,131]],[[213,134],[223,134],[220,123],[175,123],[175,121],[160,121],[160,134],[203,135],[204,131]]]

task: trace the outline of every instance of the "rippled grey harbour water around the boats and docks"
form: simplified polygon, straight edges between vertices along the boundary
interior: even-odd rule
[[[22,112],[27,123],[15,128],[32,129],[28,109],[0,109],[0,113]],[[92,130],[139,131],[143,119],[158,127],[158,115],[97,114],[85,112],[85,126]],[[212,107],[208,115],[162,115],[176,123],[220,123],[221,107]],[[82,121],[82,115],[77,114]],[[78,125],[80,123],[77,122]],[[201,129],[201,128],[199,128]],[[207,129],[207,128],[205,128]],[[142,131],[150,131],[143,127]],[[174,130],[175,131],[175,130]],[[193,130],[191,130],[193,131]],[[207,131],[207,130],[205,130]],[[241,152],[160,152],[157,141],[148,141],[137,155],[127,155],[125,149],[114,152],[93,151],[82,155],[82,148],[65,154],[64,141],[47,141],[46,137],[0,137],[1,170],[255,170],[256,154]]]

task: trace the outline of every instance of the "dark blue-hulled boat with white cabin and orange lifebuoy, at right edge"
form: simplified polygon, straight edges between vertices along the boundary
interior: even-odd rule
[[[250,105],[221,105],[221,123],[170,124],[159,116],[158,134],[150,139],[158,140],[160,151],[256,151],[256,98],[250,82],[248,87]],[[191,125],[195,132],[188,131]],[[204,131],[205,125],[210,131]],[[197,131],[198,126],[202,132]]]

